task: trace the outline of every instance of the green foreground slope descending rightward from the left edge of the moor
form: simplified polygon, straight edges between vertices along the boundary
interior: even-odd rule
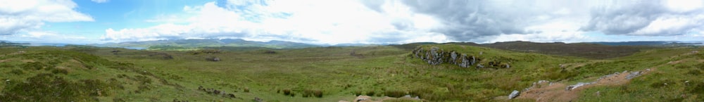
[[[132,63],[55,47],[2,48],[0,101],[163,101],[189,93]]]

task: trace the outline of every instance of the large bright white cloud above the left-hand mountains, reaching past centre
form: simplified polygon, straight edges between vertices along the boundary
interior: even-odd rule
[[[222,5],[219,3],[184,6],[184,13],[192,15],[189,17],[158,15],[146,20],[165,22],[163,25],[108,29],[101,39],[124,42],[241,38],[315,44],[448,41],[444,35],[429,32],[439,25],[434,18],[414,14],[400,3],[384,4],[388,13],[372,11],[356,1],[229,1],[218,6]],[[168,23],[171,20],[185,20],[187,24]]]

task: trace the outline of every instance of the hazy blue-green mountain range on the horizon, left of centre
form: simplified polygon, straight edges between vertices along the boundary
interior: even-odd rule
[[[123,47],[130,49],[161,49],[161,48],[179,48],[179,49],[196,49],[203,47],[264,47],[271,49],[297,49],[306,47],[315,47],[315,44],[303,44],[297,42],[285,42],[272,40],[269,42],[247,41],[244,39],[172,39],[172,40],[156,40],[144,42],[120,42],[107,44],[88,44],[89,46],[105,46],[105,47]]]

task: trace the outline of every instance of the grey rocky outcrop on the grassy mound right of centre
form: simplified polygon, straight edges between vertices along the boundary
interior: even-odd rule
[[[452,65],[458,65],[462,68],[470,68],[473,65],[479,63],[481,59],[476,56],[468,56],[465,53],[458,53],[456,51],[444,51],[438,47],[432,47],[430,49],[423,49],[422,47],[416,47],[413,50],[413,57],[420,58],[430,65],[440,65],[442,63],[448,63]]]

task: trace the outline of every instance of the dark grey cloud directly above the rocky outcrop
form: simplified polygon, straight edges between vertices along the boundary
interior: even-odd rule
[[[524,34],[529,23],[526,16],[532,16],[523,1],[505,3],[503,1],[423,1],[406,0],[404,4],[412,11],[432,15],[446,27],[434,30],[455,41],[478,41],[486,36],[498,34]]]

